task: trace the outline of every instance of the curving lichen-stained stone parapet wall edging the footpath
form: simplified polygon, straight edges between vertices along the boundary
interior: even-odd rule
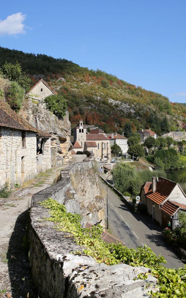
[[[69,200],[65,200],[67,191],[71,187],[70,173],[76,173],[79,166],[78,163],[71,164],[69,168],[62,171],[61,180],[57,184],[32,197],[30,265],[39,297],[148,297],[149,290],[157,291],[155,289],[157,280],[151,274],[145,281],[134,280],[137,274],[148,272],[148,268],[131,267],[125,264],[107,266],[96,263],[92,257],[74,255],[73,252],[82,251],[82,247],[78,246],[73,238],[66,237],[68,233],[53,229],[54,223],[40,221],[43,217],[49,216],[49,210],[40,206],[37,201],[43,201],[48,197],[66,204],[69,212],[77,211],[73,204],[68,204]],[[92,167],[91,162],[84,162],[82,166],[87,171]],[[92,187],[96,189],[94,183],[92,181]],[[82,200],[86,199],[88,187],[90,185],[85,187]],[[81,212],[81,207],[79,210]],[[85,222],[82,224],[85,225]]]

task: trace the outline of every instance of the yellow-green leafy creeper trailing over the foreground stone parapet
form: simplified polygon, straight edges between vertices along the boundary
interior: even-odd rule
[[[157,278],[160,292],[148,294],[150,297],[186,297],[186,268],[168,269],[162,263],[166,260],[161,255],[157,256],[149,247],[129,249],[121,243],[106,243],[101,238],[103,228],[100,225],[90,229],[81,227],[81,216],[66,211],[66,207],[51,198],[39,202],[43,207],[50,209],[50,217],[45,221],[52,221],[55,228],[68,232],[78,245],[83,246],[82,251],[76,254],[92,256],[96,262],[107,265],[124,263],[130,266],[144,266],[150,268],[151,274]],[[138,275],[138,279],[146,279],[149,272]]]

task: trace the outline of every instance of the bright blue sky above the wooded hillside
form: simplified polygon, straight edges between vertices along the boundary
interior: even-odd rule
[[[99,68],[186,102],[185,12],[185,0],[7,0],[0,46]]]

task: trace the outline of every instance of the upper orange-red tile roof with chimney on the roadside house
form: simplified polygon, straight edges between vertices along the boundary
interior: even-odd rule
[[[160,205],[170,195],[175,186],[176,182],[159,177],[159,181],[156,182],[156,191],[153,193],[150,189],[145,196]]]

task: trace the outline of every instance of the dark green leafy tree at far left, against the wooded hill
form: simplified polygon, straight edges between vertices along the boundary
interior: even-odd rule
[[[29,91],[31,80],[25,72],[22,72],[18,61],[15,64],[6,61],[0,68],[0,74],[10,81],[17,82],[26,92]]]

